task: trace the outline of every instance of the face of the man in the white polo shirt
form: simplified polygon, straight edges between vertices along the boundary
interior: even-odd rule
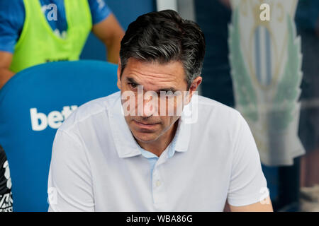
[[[184,93],[187,90],[182,64],[177,61],[167,64],[147,63],[130,58],[121,79],[120,74],[119,66],[117,85],[121,90],[125,121],[133,136],[142,143],[151,143],[164,137],[163,135],[172,130],[173,124],[180,117],[177,109],[187,104],[185,101],[183,104],[181,98],[183,95],[161,96],[161,91]],[[153,95],[147,96],[147,93],[150,93],[148,91],[153,91]],[[127,93],[130,94],[128,98],[124,97]],[[126,101],[132,100],[131,98],[134,100],[128,106]],[[171,111],[170,114],[169,111]]]

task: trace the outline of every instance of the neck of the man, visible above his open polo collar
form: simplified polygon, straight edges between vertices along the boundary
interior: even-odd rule
[[[156,141],[151,143],[142,143],[138,140],[138,144],[141,148],[144,150],[148,150],[149,152],[157,155],[158,157],[164,152],[164,150],[167,148],[169,143],[172,142],[175,133],[177,131],[177,126],[179,125],[179,119],[175,121],[173,126],[169,128],[168,131],[166,131],[162,136],[160,136]]]

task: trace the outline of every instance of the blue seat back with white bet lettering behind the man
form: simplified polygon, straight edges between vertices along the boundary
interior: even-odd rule
[[[0,144],[11,171],[13,211],[47,211],[57,128],[76,106],[118,91],[116,70],[103,61],[41,64],[17,73],[0,90]]]

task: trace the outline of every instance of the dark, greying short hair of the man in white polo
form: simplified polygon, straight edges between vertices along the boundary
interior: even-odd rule
[[[160,64],[180,61],[188,88],[201,75],[205,55],[201,28],[172,10],[146,13],[128,25],[121,41],[121,75],[130,57]]]

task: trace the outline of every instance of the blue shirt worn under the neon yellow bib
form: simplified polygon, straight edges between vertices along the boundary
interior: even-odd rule
[[[63,37],[67,30],[67,20],[65,17],[64,0],[38,0],[47,18],[51,8],[50,4],[57,6],[58,20],[47,20],[51,28],[57,35]],[[108,17],[110,8],[103,0],[87,0],[91,9],[92,23],[96,24]],[[22,0],[0,0],[0,51],[13,53],[23,28],[26,12]]]

